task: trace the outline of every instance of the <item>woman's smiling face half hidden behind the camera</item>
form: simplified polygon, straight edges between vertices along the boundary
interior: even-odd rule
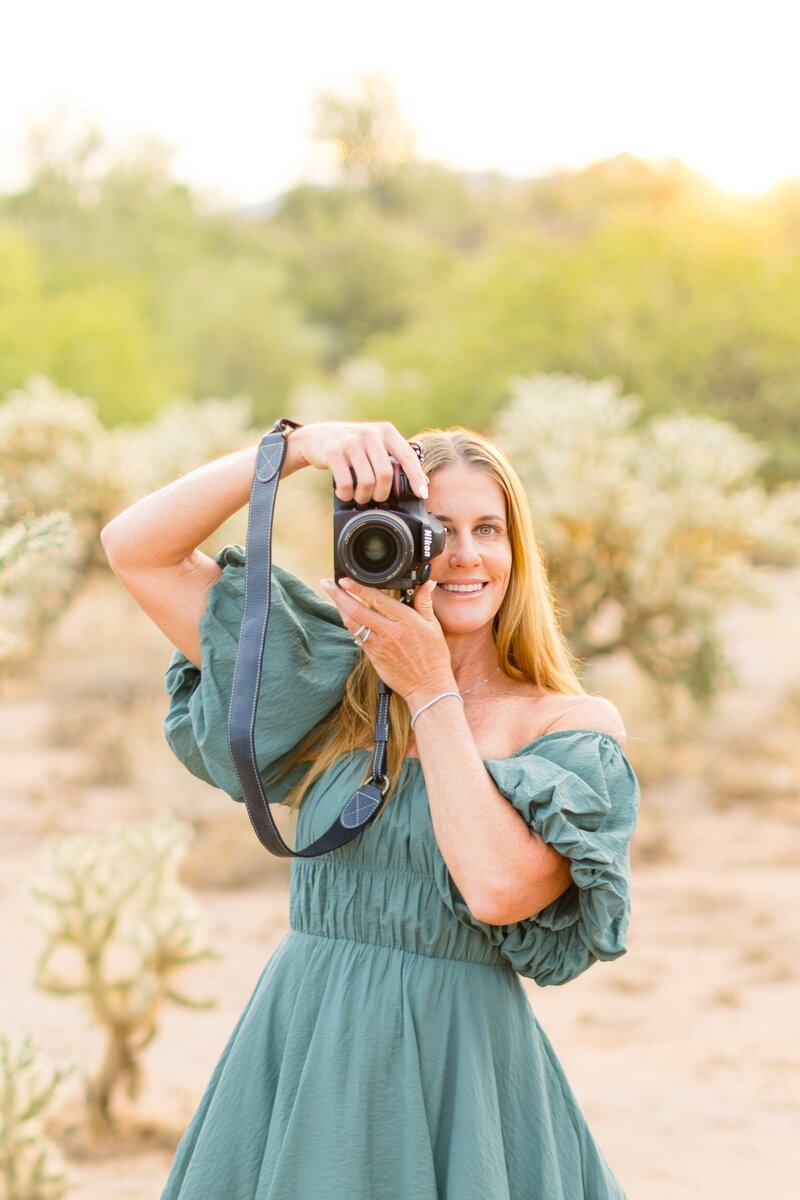
[[[447,530],[444,551],[432,559],[433,611],[445,632],[488,626],[511,578],[511,541],[503,488],[475,467],[443,467],[431,475],[426,503]],[[470,584],[481,584],[470,587]]]

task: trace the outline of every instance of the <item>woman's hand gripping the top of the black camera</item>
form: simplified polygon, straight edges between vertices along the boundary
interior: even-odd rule
[[[390,455],[416,494],[427,498],[428,480],[420,460],[391,421],[313,421],[293,430],[289,442],[308,467],[332,473],[341,500],[387,500],[393,478]]]

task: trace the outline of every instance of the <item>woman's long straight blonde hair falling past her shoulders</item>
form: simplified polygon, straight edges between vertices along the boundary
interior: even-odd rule
[[[505,496],[512,565],[506,594],[494,618],[503,673],[565,696],[584,695],[576,672],[577,660],[559,626],[558,606],[528,496],[506,456],[481,433],[462,425],[426,428],[413,440],[422,446],[428,479],[445,467],[470,467],[491,475]],[[267,788],[297,763],[308,762],[308,770],[284,800],[290,808],[299,808],[314,780],[341,755],[372,750],[379,682],[367,655],[360,655],[339,703],[306,734],[281,770],[267,780]],[[387,798],[399,778],[410,734],[408,706],[395,692],[389,702],[389,722],[392,736],[386,752]]]

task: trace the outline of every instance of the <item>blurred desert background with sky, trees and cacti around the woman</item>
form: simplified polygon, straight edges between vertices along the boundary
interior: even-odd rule
[[[510,455],[642,782],[628,954],[525,982],[531,1004],[631,1200],[794,1194],[793,20],[573,0],[8,18],[6,1200],[155,1200],[288,926],[289,863],[163,740],[172,647],[98,541],[278,415],[465,424]],[[318,590],[331,528],[329,476],[282,485],[276,557]],[[245,535],[246,510],[203,548]]]

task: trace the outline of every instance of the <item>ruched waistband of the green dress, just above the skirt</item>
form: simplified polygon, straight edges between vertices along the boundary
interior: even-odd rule
[[[453,917],[435,880],[341,857],[336,863],[326,856],[291,860],[289,924],[301,934],[429,959],[510,967],[480,930]]]

